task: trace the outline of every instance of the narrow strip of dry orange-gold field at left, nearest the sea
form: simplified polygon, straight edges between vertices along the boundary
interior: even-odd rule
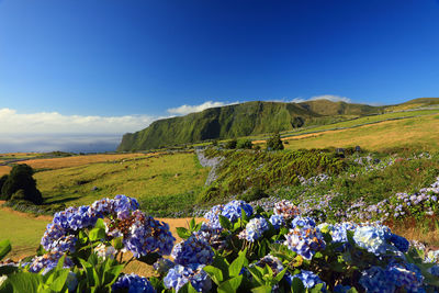
[[[89,165],[93,162],[131,159],[136,157],[148,157],[153,155],[154,154],[87,155],[87,156],[75,156],[75,157],[53,158],[53,159],[33,159],[33,160],[25,160],[23,161],[23,164],[27,164],[34,169],[61,169],[68,167]]]

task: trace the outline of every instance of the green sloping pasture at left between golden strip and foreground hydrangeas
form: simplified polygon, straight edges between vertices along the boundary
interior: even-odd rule
[[[47,170],[34,178],[46,204],[79,205],[115,194],[142,201],[190,192],[204,184],[207,171],[193,154],[169,154]]]

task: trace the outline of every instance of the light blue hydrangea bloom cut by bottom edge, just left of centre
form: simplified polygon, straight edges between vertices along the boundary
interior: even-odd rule
[[[209,292],[212,288],[212,281],[207,273],[203,271],[203,267],[204,264],[194,263],[188,267],[177,264],[165,277],[165,286],[167,289],[173,288],[178,292],[185,283],[191,282],[198,292]]]

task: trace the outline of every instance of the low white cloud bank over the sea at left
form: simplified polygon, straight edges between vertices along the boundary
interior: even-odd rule
[[[157,119],[159,117],[148,115],[63,115],[58,112],[22,114],[15,110],[3,108],[0,109],[0,133],[123,134],[143,129]]]

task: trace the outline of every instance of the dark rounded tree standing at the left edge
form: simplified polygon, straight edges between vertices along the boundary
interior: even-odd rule
[[[32,177],[33,173],[32,167],[25,164],[14,166],[1,188],[1,198],[10,200],[12,194],[22,190],[20,193],[23,194],[24,200],[34,204],[43,203],[43,196],[40,190],[36,189],[36,181]]]

